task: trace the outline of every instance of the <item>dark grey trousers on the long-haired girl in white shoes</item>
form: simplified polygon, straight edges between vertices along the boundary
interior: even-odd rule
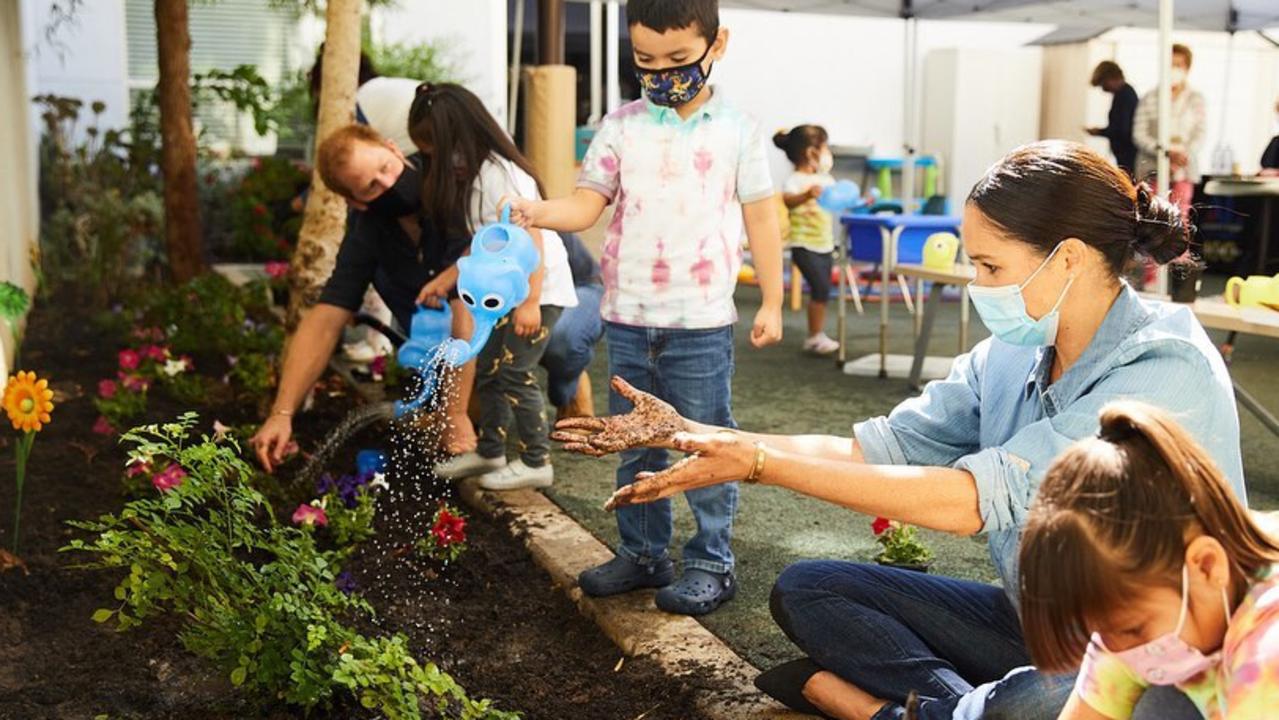
[[[546,405],[533,368],[546,352],[561,308],[542,306],[542,326],[531,338],[515,335],[508,315],[492,329],[489,343],[476,361],[476,396],[480,402],[478,451],[485,458],[506,454],[506,434],[515,431],[519,459],[531,468],[546,464],[551,439],[546,427]]]

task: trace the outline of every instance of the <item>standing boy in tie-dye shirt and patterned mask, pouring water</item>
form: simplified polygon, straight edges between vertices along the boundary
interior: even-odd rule
[[[716,0],[631,0],[627,18],[646,98],[604,119],[573,196],[512,198],[513,217],[582,230],[611,203],[600,258],[610,373],[686,418],[732,427],[733,292],[743,230],[764,295],[751,341],[781,339],[781,240],[765,139],[706,84],[728,45]],[[610,413],[631,409],[627,398],[610,395]],[[616,485],[666,463],[663,449],[624,451]],[[737,592],[737,492],[730,483],[687,494],[697,533],[684,545],[684,573],[674,583],[670,501],[619,510],[616,558],[582,573],[582,590],[605,596],[660,587],[659,607],[710,613]]]

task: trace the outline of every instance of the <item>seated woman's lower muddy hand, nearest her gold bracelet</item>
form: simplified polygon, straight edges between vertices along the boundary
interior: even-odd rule
[[[744,480],[755,463],[755,444],[734,432],[680,432],[673,445],[689,455],[661,472],[636,474],[636,481],[618,489],[604,509],[652,503],[677,492]]]

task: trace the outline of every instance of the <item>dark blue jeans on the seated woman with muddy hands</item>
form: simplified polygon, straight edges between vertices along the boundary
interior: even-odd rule
[[[889,701],[872,720],[1055,720],[1073,675],[1030,666],[1021,622],[999,587],[914,570],[807,560],[781,572],[769,600],[781,630],[821,668]],[[1191,720],[1175,688],[1155,688],[1133,717]]]

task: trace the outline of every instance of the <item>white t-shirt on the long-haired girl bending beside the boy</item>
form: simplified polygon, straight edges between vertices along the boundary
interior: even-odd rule
[[[537,192],[537,183],[528,173],[505,157],[490,156],[476,175],[475,193],[471,194],[471,225],[480,229],[496,223],[498,202],[503,196],[542,198]],[[577,307],[568,252],[564,251],[564,240],[553,230],[542,230],[542,261],[546,276],[542,279],[541,304]]]

